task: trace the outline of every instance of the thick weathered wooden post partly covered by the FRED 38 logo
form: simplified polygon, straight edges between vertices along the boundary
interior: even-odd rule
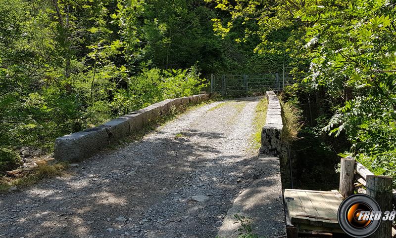
[[[366,194],[374,198],[382,214],[392,211],[392,178],[381,175],[367,175]],[[378,230],[370,238],[392,237],[392,221],[381,221]]]

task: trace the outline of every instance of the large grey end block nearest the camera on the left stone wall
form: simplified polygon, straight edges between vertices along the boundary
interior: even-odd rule
[[[54,158],[67,161],[87,159],[108,144],[106,126],[86,129],[56,138]]]

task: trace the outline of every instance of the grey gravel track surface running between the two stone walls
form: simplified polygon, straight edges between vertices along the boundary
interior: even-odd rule
[[[215,237],[263,173],[250,151],[260,98],[188,111],[70,174],[0,195],[0,237]]]

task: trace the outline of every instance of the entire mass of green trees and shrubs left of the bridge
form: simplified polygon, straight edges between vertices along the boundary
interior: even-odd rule
[[[207,17],[215,13],[190,13],[192,4],[1,1],[1,147],[50,152],[58,136],[204,89],[195,64],[216,39]]]

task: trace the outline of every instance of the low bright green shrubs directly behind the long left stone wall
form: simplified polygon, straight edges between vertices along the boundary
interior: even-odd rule
[[[199,78],[196,67],[144,69],[132,77],[120,71],[112,67],[97,69],[95,80],[89,72],[80,74],[68,90],[64,89],[67,82],[43,83],[34,92],[21,96],[12,115],[19,121],[4,122],[2,129],[7,131],[7,137],[0,138],[13,139],[2,144],[51,151],[56,137],[99,125],[167,98],[197,94],[206,80]]]

